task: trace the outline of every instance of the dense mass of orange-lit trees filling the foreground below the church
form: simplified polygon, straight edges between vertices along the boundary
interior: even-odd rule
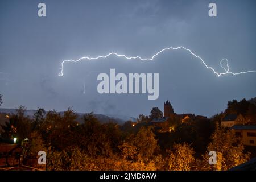
[[[47,152],[48,170],[227,170],[249,159],[241,138],[218,123],[229,113],[238,114],[237,124],[251,123],[254,102],[230,101],[224,113],[210,119],[181,122],[174,114],[166,121],[173,128],[168,132],[151,124],[163,117],[158,107],[137,122],[103,123],[93,113],[79,118],[71,108],[63,113],[38,108],[28,117],[20,106],[1,125],[1,137],[10,143],[14,137],[18,143],[30,139],[31,155]],[[209,165],[209,151],[216,151],[216,165]]]

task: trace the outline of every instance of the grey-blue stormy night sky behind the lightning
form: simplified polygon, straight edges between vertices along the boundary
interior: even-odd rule
[[[38,3],[47,17],[38,17]],[[217,17],[208,15],[210,2]],[[256,71],[256,1],[0,1],[0,93],[4,108],[66,110],[138,117],[170,100],[176,113],[219,113],[229,100],[256,96],[256,73],[217,77],[184,50],[154,61],[110,56],[64,65],[61,61],[117,52],[151,57],[184,46],[223,72]],[[97,75],[159,73],[159,98],[99,94]],[[85,88],[85,94],[84,94]]]

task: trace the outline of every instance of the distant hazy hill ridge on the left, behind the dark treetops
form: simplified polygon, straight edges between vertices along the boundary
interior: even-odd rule
[[[5,108],[0,108],[0,113],[8,113],[8,114],[15,114],[16,113],[16,109],[5,109]],[[33,115],[36,113],[36,110],[26,110],[25,111],[25,115],[28,117],[33,117]],[[64,112],[58,112],[60,114],[63,114]],[[77,113],[78,118],[77,121],[82,123],[83,122],[83,115],[85,113]],[[101,122],[101,123],[107,123],[109,121],[112,122],[116,122],[119,124],[122,124],[126,121],[136,121],[135,118],[133,117],[127,117],[127,116],[123,116],[123,115],[104,115],[104,114],[94,114],[94,116]]]

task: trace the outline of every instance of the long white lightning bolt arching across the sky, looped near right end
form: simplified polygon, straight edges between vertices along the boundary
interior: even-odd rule
[[[168,47],[168,48],[164,48],[162,49],[161,51],[155,53],[155,55],[153,55],[152,57],[148,57],[148,58],[142,58],[140,56],[131,56],[131,57],[128,57],[126,55],[120,55],[118,53],[115,53],[115,52],[111,52],[111,53],[108,53],[107,55],[105,56],[97,56],[97,57],[81,57],[80,59],[78,60],[64,60],[62,61],[61,63],[61,72],[59,73],[59,76],[63,76],[63,70],[64,70],[64,63],[68,63],[68,62],[74,62],[74,63],[77,63],[81,60],[97,60],[97,59],[104,59],[106,57],[109,57],[111,55],[114,55],[114,56],[117,56],[117,57],[124,57],[125,59],[139,59],[141,61],[152,61],[155,59],[156,56],[158,56],[160,53],[164,52],[164,51],[168,51],[168,50],[178,50],[178,49],[183,49],[187,52],[189,52],[192,56],[196,57],[197,59],[199,59],[203,64],[204,66],[207,68],[207,69],[210,69],[211,71],[213,71],[213,73],[215,73],[218,77],[220,77],[221,75],[227,75],[227,74],[232,74],[232,75],[240,75],[242,73],[256,73],[256,71],[243,71],[243,72],[238,72],[238,73],[233,73],[233,72],[230,72],[230,67],[229,67],[229,61],[228,59],[222,59],[220,61],[220,66],[221,68],[224,69],[225,72],[221,72],[221,73],[218,73],[216,72],[212,67],[208,67],[208,65],[205,63],[205,61],[200,57],[200,56],[197,56],[194,52],[191,51],[191,49],[188,49],[188,48],[185,48],[183,46],[180,46],[180,47]],[[225,61],[226,63],[226,68],[223,66],[223,62]]]

